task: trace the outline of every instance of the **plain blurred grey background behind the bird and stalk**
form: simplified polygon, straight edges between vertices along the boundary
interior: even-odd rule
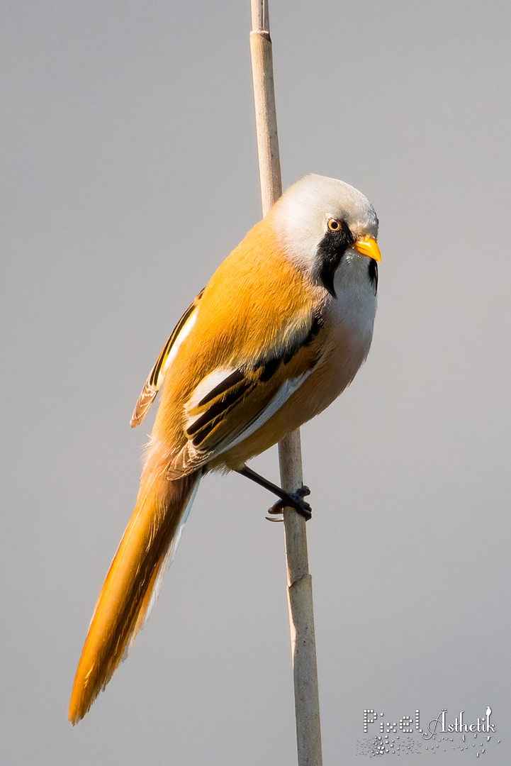
[[[203,482],[129,660],[66,715],[135,500],[133,405],[260,216],[248,0],[0,12],[0,758],[294,764],[282,526],[239,476]],[[324,761],[361,761],[368,707],[490,705],[478,761],[508,764],[509,2],[270,12],[284,185],[343,178],[381,221],[369,360],[302,433]],[[276,479],[275,450],[255,466]]]

